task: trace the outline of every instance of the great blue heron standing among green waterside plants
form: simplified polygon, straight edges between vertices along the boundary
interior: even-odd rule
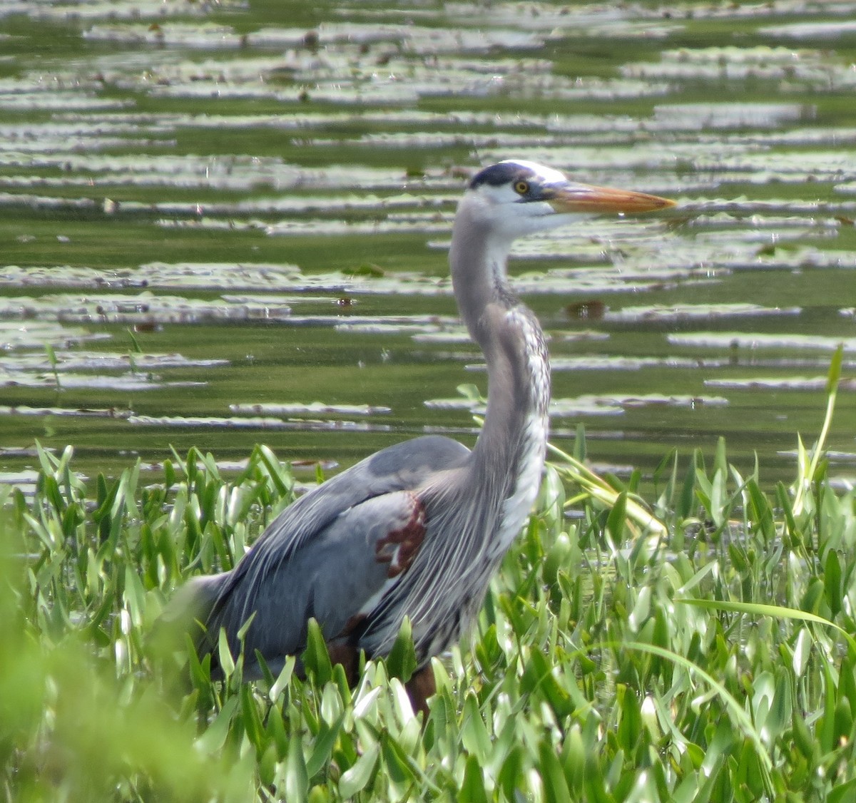
[[[414,709],[427,711],[431,657],[478,614],[544,467],[550,364],[538,320],[508,287],[511,243],[592,214],[672,203],[578,184],[526,161],[475,175],[449,251],[461,318],[487,362],[487,412],[473,450],[447,437],[417,437],[300,497],[234,569],[191,581],[184,600],[205,624],[200,650],[216,656],[224,628],[236,652],[238,631],[253,616],[245,677],[259,673],[256,651],[276,671],[306,648],[314,617],[330,657],[355,682],[360,651],[387,655],[407,616],[418,661],[407,690]]]

